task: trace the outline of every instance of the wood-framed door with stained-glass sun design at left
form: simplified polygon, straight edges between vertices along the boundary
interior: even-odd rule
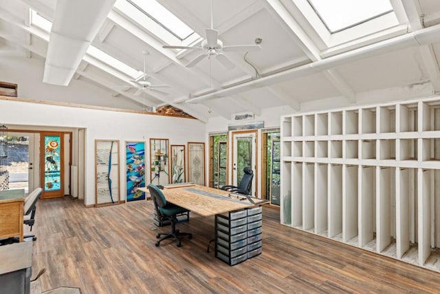
[[[41,198],[64,196],[64,134],[42,132],[40,138]]]

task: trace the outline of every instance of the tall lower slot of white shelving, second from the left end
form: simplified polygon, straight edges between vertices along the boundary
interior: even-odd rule
[[[303,227],[303,163],[292,163],[292,226]]]

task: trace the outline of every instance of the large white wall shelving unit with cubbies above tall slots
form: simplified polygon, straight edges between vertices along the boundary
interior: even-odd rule
[[[440,98],[281,126],[282,224],[440,271]]]

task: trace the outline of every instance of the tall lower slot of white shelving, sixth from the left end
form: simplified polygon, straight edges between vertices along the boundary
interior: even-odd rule
[[[358,165],[344,165],[342,169],[342,241],[358,236]]]

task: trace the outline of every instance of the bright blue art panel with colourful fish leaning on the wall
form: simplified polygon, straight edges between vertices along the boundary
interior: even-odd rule
[[[125,143],[126,201],[144,200],[145,192],[137,190],[145,187],[145,143]]]

